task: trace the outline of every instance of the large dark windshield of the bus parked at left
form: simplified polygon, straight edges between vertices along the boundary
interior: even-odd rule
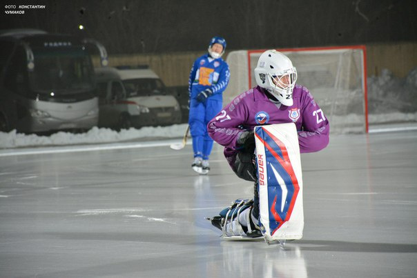
[[[86,51],[34,49],[35,69],[30,72],[32,90],[68,95],[94,89],[94,71]]]

